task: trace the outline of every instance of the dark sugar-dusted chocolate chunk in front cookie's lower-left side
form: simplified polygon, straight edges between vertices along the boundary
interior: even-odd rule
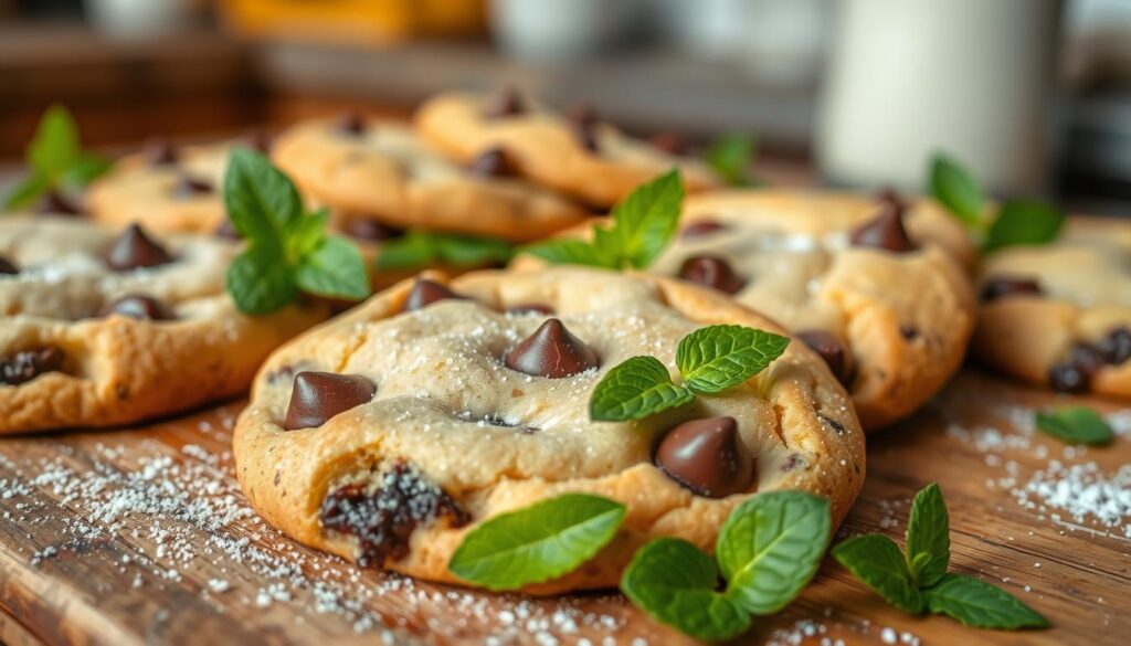
[[[468,515],[435,483],[399,463],[385,473],[378,486],[346,484],[322,501],[323,529],[357,539],[357,565],[380,568],[388,559],[408,555],[408,541],[417,526],[446,517],[454,527]]]

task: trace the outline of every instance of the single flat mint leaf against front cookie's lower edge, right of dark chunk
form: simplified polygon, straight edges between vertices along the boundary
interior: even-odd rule
[[[616,535],[624,506],[567,493],[472,529],[448,569],[487,589],[518,589],[577,569]]]

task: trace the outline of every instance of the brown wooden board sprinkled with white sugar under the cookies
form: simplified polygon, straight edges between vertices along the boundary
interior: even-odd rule
[[[938,481],[950,508],[952,569],[1008,588],[1053,629],[979,631],[908,617],[826,559],[794,604],[758,620],[740,641],[1126,643],[1131,518],[1106,527],[1052,506],[1029,508],[1015,490],[1035,477],[1062,479],[1053,460],[1091,464],[1096,477],[1131,471],[1123,430],[1131,410],[1124,416],[1112,403],[1091,402],[1117,413],[1122,434],[1112,447],[1083,450],[1028,428],[1031,410],[1054,399],[962,373],[914,419],[870,438],[867,482],[839,532],[886,532],[901,542],[910,497]],[[239,494],[227,453],[239,408],[232,403],[131,431],[0,440],[0,606],[10,615],[0,617],[0,640],[689,643],[615,594],[469,593],[359,572],[294,544],[259,523]]]

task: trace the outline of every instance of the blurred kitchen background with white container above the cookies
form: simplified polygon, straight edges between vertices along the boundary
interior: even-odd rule
[[[943,149],[1131,215],[1129,0],[0,0],[0,175],[52,103],[114,153],[506,85],[753,133],[771,181],[917,188]]]

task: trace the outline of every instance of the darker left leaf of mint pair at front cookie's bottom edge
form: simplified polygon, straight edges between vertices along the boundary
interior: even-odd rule
[[[750,628],[750,613],[715,592],[710,557],[681,539],[640,548],[621,578],[621,591],[649,617],[697,639],[722,640]]]

